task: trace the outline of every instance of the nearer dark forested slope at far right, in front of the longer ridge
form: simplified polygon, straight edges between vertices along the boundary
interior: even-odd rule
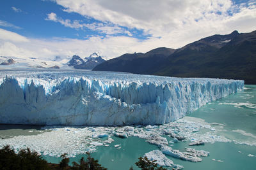
[[[209,77],[245,80],[256,83],[256,31],[239,34],[221,48],[204,50],[186,48],[173,53],[157,75]]]

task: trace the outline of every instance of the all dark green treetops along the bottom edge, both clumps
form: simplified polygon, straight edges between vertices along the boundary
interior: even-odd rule
[[[18,153],[15,153],[15,151],[10,148],[9,145],[6,145],[0,149],[0,169],[107,170],[105,167],[102,167],[99,164],[98,160],[92,158],[89,152],[86,152],[86,155],[86,160],[84,160],[84,157],[82,157],[79,164],[77,162],[72,162],[72,166],[68,166],[69,158],[67,157],[67,153],[64,153],[61,155],[60,164],[51,164],[42,159],[37,152],[31,152],[29,148],[26,150],[22,149]],[[147,157],[140,157],[139,161],[135,164],[142,170],[165,170],[163,167],[157,167],[156,160],[151,161],[148,160]],[[131,167],[130,170],[133,170],[133,168]]]

